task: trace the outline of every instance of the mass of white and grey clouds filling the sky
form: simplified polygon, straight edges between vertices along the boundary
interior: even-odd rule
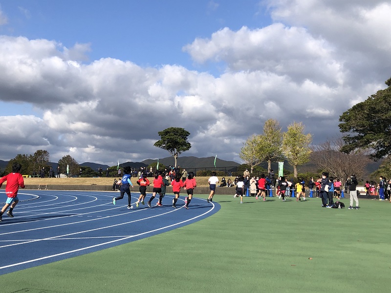
[[[184,45],[197,63],[224,63],[219,76],[112,58],[88,63],[89,44],[0,36],[0,100],[43,113],[0,117],[0,159],[41,148],[53,161],[70,154],[79,163],[165,157],[153,146],[157,132],[177,126],[191,133],[183,155],[240,161],[242,143],[269,118],[284,129],[302,121],[322,142],[338,133],[343,111],[390,77],[391,5],[342,2],[270,0],[271,25],[226,27]]]

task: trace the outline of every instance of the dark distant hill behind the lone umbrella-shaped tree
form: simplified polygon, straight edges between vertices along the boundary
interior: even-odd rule
[[[146,164],[147,166],[156,163],[157,160],[144,160],[142,163]],[[178,157],[177,159],[177,166],[180,166],[181,168],[202,168],[202,167],[215,167],[214,165],[215,157],[207,157],[207,158],[197,158],[197,157]],[[159,163],[165,165],[165,166],[174,166],[174,157],[167,157],[163,159],[159,159]],[[240,164],[234,161],[224,161],[220,160],[219,158],[216,159],[216,167],[236,167]]]

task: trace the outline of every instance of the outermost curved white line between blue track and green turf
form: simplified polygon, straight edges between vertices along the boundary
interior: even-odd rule
[[[152,233],[152,232],[156,232],[156,231],[159,231],[159,230],[164,230],[164,229],[167,229],[167,228],[171,228],[171,227],[174,227],[174,226],[177,226],[177,225],[180,225],[180,224],[189,222],[189,221],[193,221],[193,220],[195,220],[195,219],[197,219],[197,218],[199,218],[199,217],[201,217],[201,216],[204,216],[204,215],[206,215],[207,213],[210,213],[213,209],[215,209],[215,207],[216,207],[215,204],[212,203],[212,208],[209,209],[208,211],[204,212],[203,214],[200,214],[200,215],[195,216],[195,217],[193,217],[193,218],[190,218],[190,219],[187,219],[187,220],[185,220],[185,221],[181,221],[181,222],[178,222],[178,223],[175,223],[175,224],[172,224],[172,225],[168,225],[168,226],[161,227],[161,228],[154,229],[154,230],[145,231],[145,232],[143,232],[143,233],[139,233],[139,234],[136,234],[136,235],[126,236],[126,237],[123,237],[123,238],[111,240],[111,241],[108,241],[108,242],[105,242],[105,243],[100,243],[100,244],[96,244],[96,245],[92,245],[92,246],[80,248],[80,249],[77,249],[77,250],[65,251],[65,252],[62,252],[62,253],[57,253],[57,254],[53,254],[53,255],[48,255],[48,256],[44,256],[44,257],[40,257],[40,258],[36,258],[36,259],[31,259],[31,260],[23,261],[23,262],[16,263],[16,264],[11,264],[11,265],[7,265],[7,266],[3,266],[3,267],[0,267],[0,270],[1,270],[1,269],[6,269],[6,268],[15,267],[15,266],[19,266],[19,265],[23,265],[23,264],[27,264],[27,263],[32,263],[32,262],[35,262],[35,261],[40,261],[40,260],[43,260],[43,259],[48,259],[48,258],[60,256],[60,255],[65,255],[65,254],[69,254],[69,253],[73,253],[73,252],[77,252],[77,251],[83,251],[83,250],[87,250],[87,249],[91,249],[91,248],[95,248],[95,247],[107,245],[107,244],[110,244],[110,243],[115,243],[115,242],[118,242],[118,241],[123,241],[123,240],[126,240],[126,239],[138,237],[138,236],[141,236],[141,235],[146,235],[146,234],[149,234],[149,233]],[[176,209],[174,209],[174,210],[176,210]],[[173,211],[174,211],[174,210],[173,210]],[[172,212],[172,211],[171,211],[171,212]],[[150,218],[153,218],[153,217],[156,217],[156,216],[158,216],[158,215],[152,216],[152,217],[150,217]],[[136,220],[136,221],[140,221],[140,220]],[[131,222],[136,222],[136,221],[131,221]],[[131,222],[129,222],[129,223],[131,223]],[[122,225],[122,224],[120,224],[120,225]],[[116,226],[116,225],[113,225],[113,226]],[[111,227],[112,227],[112,226],[111,226]],[[106,227],[106,228],[108,228],[108,227]],[[77,234],[77,233],[72,233],[72,234]],[[69,234],[69,235],[72,235],[72,234]],[[59,237],[59,236],[57,236],[57,237]],[[54,237],[50,237],[50,238],[47,238],[47,239],[51,239],[51,238],[54,238]]]

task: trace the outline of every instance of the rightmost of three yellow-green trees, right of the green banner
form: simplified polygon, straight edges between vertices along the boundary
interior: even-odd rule
[[[282,135],[282,153],[293,167],[295,177],[297,177],[297,167],[309,161],[311,142],[312,135],[310,133],[304,134],[304,125],[301,122],[290,124],[288,131]]]

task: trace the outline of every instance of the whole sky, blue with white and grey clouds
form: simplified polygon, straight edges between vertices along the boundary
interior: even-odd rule
[[[178,126],[182,155],[240,162],[269,118],[322,143],[390,78],[389,15],[381,0],[0,0],[0,159],[162,158],[157,132]]]

